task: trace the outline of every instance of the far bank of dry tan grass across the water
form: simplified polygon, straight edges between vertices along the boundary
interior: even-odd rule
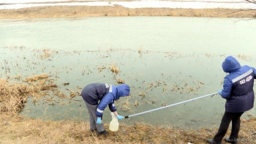
[[[256,10],[171,9],[110,6],[53,6],[0,10],[0,18],[83,18],[99,16],[173,16],[205,18],[256,18]]]

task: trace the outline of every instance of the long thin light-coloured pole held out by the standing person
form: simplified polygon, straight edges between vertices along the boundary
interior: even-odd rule
[[[253,83],[253,84],[255,85],[256,83]],[[153,109],[153,110],[148,110],[148,111],[145,111],[145,112],[136,113],[136,114],[134,114],[134,115],[127,115],[127,116],[125,116],[124,118],[130,118],[130,117],[132,117],[132,116],[142,115],[142,114],[144,114],[144,113],[153,112],[153,111],[155,111],[155,110],[161,110],[161,109],[163,109],[163,108],[173,107],[174,105],[180,105],[180,104],[184,104],[184,103],[186,103],[186,102],[192,102],[192,101],[194,101],[194,100],[202,99],[202,98],[207,97],[207,96],[213,96],[214,94],[218,94],[218,92],[215,92],[215,93],[212,93],[212,94],[206,94],[206,95],[204,95],[204,96],[199,96],[199,97],[196,97],[196,98],[194,98],[194,99],[189,99],[189,100],[186,100],[186,101],[183,101],[183,102],[178,102],[178,103],[175,103],[175,104],[172,104],[172,105],[166,105],[165,107],[159,107],[159,108],[156,108],[156,109]]]

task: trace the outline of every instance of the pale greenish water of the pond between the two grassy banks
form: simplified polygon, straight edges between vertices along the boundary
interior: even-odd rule
[[[256,22],[231,18],[43,18],[0,20],[1,77],[47,73],[61,91],[80,92],[89,83],[124,80],[131,96],[116,102],[118,113],[132,115],[222,88],[222,61],[233,55],[255,67]],[[50,57],[41,58],[49,49]],[[120,72],[110,71],[115,64]],[[10,70],[6,71],[5,69]],[[102,71],[99,68],[103,68]],[[63,83],[69,83],[64,86]],[[80,96],[75,100],[30,101],[23,115],[50,120],[89,121]],[[138,105],[135,106],[135,101]],[[128,102],[130,110],[122,107]],[[121,121],[181,127],[218,126],[225,99],[209,96],[184,105]],[[244,114],[255,115],[255,110]],[[110,122],[110,111],[104,112]]]

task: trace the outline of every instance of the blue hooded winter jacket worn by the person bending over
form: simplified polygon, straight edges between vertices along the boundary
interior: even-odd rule
[[[114,101],[120,96],[129,96],[129,86],[127,84],[113,86],[108,83],[91,83],[83,88],[82,96],[90,105],[98,105],[96,115],[101,117],[107,106],[111,112],[116,111]]]

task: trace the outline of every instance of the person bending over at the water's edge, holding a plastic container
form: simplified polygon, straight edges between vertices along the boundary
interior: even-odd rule
[[[108,131],[104,129],[102,122],[103,111],[108,106],[110,111],[122,120],[124,116],[118,115],[114,101],[120,96],[129,96],[129,86],[127,84],[113,86],[108,83],[91,83],[83,88],[82,96],[89,111],[91,132],[97,130],[97,134],[107,135]]]

